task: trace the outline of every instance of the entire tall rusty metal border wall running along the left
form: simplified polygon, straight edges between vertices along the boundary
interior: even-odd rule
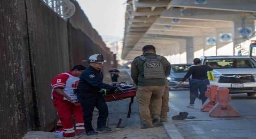
[[[74,1],[73,1],[74,2]],[[76,2],[74,2],[76,3]],[[81,9],[76,3],[76,8]],[[82,13],[81,13],[82,12]],[[78,15],[84,15],[78,10]],[[65,21],[41,0],[0,2],[0,138],[19,139],[28,131],[49,131],[57,120],[51,80],[93,54],[116,64],[88,22],[87,32]],[[73,18],[75,20],[84,20]]]

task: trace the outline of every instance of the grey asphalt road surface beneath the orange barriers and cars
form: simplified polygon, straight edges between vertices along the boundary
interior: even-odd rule
[[[169,93],[168,123],[174,124],[184,139],[256,139],[256,97],[234,94],[230,104],[239,112],[240,117],[213,118],[207,112],[200,112],[202,103],[199,99],[196,99],[195,108],[186,107],[189,104],[189,91]],[[172,121],[171,117],[180,111],[188,112],[188,116],[195,116],[196,119]]]

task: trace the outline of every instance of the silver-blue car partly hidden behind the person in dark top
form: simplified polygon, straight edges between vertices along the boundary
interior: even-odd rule
[[[178,87],[189,88],[188,80],[183,82],[181,86],[179,86],[179,83],[183,79],[183,77],[186,75],[191,65],[193,64],[172,64],[171,65],[171,73],[169,77],[167,77],[170,88],[178,88]]]

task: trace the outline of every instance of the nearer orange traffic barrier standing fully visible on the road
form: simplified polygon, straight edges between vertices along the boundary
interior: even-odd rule
[[[234,107],[228,104],[231,100],[231,96],[228,94],[229,89],[227,87],[218,87],[217,94],[215,95],[217,103],[209,112],[211,117],[237,117],[239,113]]]

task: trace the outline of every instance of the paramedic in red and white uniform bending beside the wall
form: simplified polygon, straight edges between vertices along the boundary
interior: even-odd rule
[[[84,132],[82,106],[77,102],[76,94],[74,94],[74,89],[84,70],[83,65],[75,65],[71,71],[58,74],[52,80],[52,100],[62,123],[63,134],[61,133],[61,136],[63,135],[63,137],[72,137]],[[72,115],[75,117],[76,131]]]

